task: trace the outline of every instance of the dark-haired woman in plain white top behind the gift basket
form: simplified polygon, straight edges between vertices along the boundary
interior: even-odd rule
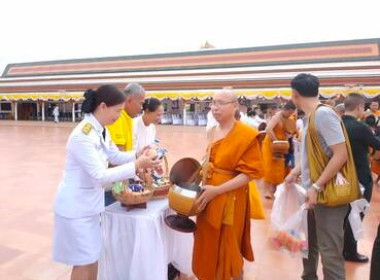
[[[133,120],[133,146],[139,152],[156,140],[156,124],[161,122],[164,107],[157,98],[145,99],[143,114]]]

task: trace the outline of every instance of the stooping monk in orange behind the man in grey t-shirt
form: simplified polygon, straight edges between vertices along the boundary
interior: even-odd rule
[[[265,198],[272,199],[276,186],[281,184],[285,179],[285,156],[274,157],[272,151],[272,142],[276,140],[288,141],[288,136],[292,131],[288,131],[292,127],[290,119],[296,110],[296,106],[292,102],[285,104],[284,108],[277,112],[269,121],[266,136],[262,144],[263,163],[264,163],[264,184]],[[294,127],[296,121],[293,120]]]

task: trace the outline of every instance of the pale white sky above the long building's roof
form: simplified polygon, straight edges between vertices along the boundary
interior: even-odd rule
[[[0,0],[9,63],[380,38],[380,1]]]

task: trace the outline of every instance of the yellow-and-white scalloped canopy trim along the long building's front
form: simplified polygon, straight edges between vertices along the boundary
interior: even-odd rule
[[[183,100],[206,100],[212,98],[218,90],[183,90],[183,91],[147,91],[147,97],[162,99]],[[273,100],[275,98],[291,98],[290,88],[265,88],[265,89],[233,89],[239,97],[247,99],[264,98]],[[379,87],[334,87],[321,88],[320,95],[323,98],[333,98],[337,95],[346,96],[352,92],[363,94],[366,98],[374,98],[380,95]],[[2,101],[82,101],[83,92],[29,92],[29,93],[0,93]]]

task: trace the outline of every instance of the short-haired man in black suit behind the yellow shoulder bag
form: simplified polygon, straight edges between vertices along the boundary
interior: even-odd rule
[[[355,161],[356,173],[360,184],[364,187],[364,198],[371,201],[372,175],[369,164],[369,147],[380,150],[380,140],[375,137],[370,127],[358,121],[364,114],[365,99],[362,95],[352,93],[344,101],[345,114],[342,117],[343,124],[347,130],[351,143],[352,155]],[[343,255],[347,261],[368,262],[368,258],[357,252],[357,241],[355,240],[350,223],[346,222],[344,233]]]

